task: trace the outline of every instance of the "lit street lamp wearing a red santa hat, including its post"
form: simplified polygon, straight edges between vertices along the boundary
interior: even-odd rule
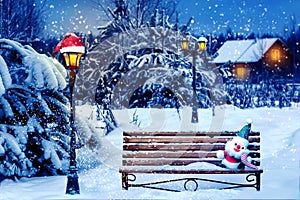
[[[84,44],[81,41],[81,38],[77,37],[73,33],[68,33],[64,36],[64,38],[58,43],[55,47],[52,56],[58,53],[63,54],[65,59],[65,68],[70,70],[69,74],[69,87],[70,87],[70,130],[69,135],[71,137],[70,140],[70,165],[69,165],[69,173],[68,173],[68,182],[66,194],[80,194],[79,183],[78,183],[78,174],[77,174],[77,166],[76,166],[76,126],[74,122],[74,112],[75,106],[73,102],[73,90],[76,79],[76,69],[79,69],[81,56],[85,52]]]

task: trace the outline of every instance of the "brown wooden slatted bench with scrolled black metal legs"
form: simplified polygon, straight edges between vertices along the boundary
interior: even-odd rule
[[[216,157],[216,152],[224,150],[225,143],[236,134],[237,132],[123,132],[122,167],[119,170],[122,174],[122,188],[128,190],[129,187],[145,187],[181,191],[157,186],[169,182],[185,181],[184,189],[187,190],[186,185],[192,182],[194,184],[192,190],[196,191],[198,181],[208,181],[226,185],[222,189],[254,187],[259,191],[260,176],[263,173],[261,169],[229,170],[217,166],[212,169],[182,169],[182,166],[196,162],[220,165],[221,160]],[[260,166],[259,132],[250,132],[248,149],[250,150],[249,155],[252,157],[252,164]],[[165,166],[173,167],[166,169]],[[151,183],[134,183],[137,178],[136,174],[185,174],[189,177]],[[198,175],[204,174],[213,174],[214,176],[245,174],[246,183],[197,178]]]

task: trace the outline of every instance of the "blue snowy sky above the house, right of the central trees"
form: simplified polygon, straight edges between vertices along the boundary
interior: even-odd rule
[[[193,27],[199,32],[218,33],[230,27],[236,33],[282,34],[290,29],[292,16],[300,26],[300,0],[190,0],[181,4],[185,7],[182,17],[193,15]]]

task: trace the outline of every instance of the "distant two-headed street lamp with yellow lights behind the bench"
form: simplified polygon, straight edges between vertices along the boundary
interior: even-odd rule
[[[198,100],[197,100],[197,92],[196,92],[196,55],[199,53],[198,49],[200,50],[200,53],[204,52],[206,50],[206,44],[207,44],[207,39],[203,36],[201,36],[198,40],[198,48],[195,48],[192,51],[189,50],[189,43],[190,40],[188,38],[184,38],[181,40],[181,47],[184,50],[185,55],[188,54],[193,57],[193,66],[192,66],[192,74],[193,74],[193,82],[192,82],[192,87],[193,87],[193,99],[192,99],[192,123],[198,123]]]

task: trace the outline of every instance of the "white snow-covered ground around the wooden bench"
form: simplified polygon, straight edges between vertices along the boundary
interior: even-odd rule
[[[89,106],[79,107],[77,111],[85,119],[92,112]],[[190,111],[189,108],[183,109],[180,120],[176,110],[140,109],[136,112],[140,127],[130,123],[135,110],[114,111],[120,129],[101,137],[101,148],[95,150],[92,157],[87,156],[85,149],[78,152],[80,195],[66,195],[66,176],[56,176],[23,178],[18,182],[5,180],[0,184],[0,199],[300,199],[300,107],[240,110],[226,106],[217,108],[215,117],[212,117],[211,110],[199,110],[198,125],[190,123]],[[247,118],[253,119],[252,130],[261,131],[261,168],[264,173],[260,192],[253,188],[181,193],[121,189],[118,173],[121,130],[239,130]],[[91,119],[89,123],[94,121]],[[96,134],[101,135],[100,131]],[[98,159],[102,164],[92,163],[90,158]],[[235,175],[227,178],[237,179]]]

